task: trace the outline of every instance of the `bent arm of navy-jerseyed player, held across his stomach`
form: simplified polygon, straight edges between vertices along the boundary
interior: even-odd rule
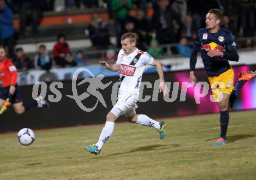
[[[229,50],[229,52],[209,50],[209,52],[207,53],[208,56],[210,56],[210,57],[215,57],[215,56],[224,57],[229,61],[236,61],[237,62],[239,60],[239,55],[237,53],[236,43],[234,42],[234,38],[233,38],[233,35],[231,33],[226,37],[226,44],[227,44],[227,49]]]

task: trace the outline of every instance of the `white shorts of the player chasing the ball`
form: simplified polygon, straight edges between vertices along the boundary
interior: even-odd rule
[[[139,94],[120,94],[118,97],[118,102],[113,106],[111,112],[116,116],[125,115],[126,117],[130,117],[136,114],[135,109],[138,107],[136,102],[138,101]],[[120,109],[122,113],[117,115],[115,113],[115,108]]]

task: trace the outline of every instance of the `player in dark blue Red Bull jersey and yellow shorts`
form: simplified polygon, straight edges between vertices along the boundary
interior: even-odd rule
[[[222,12],[211,9],[206,16],[206,28],[197,32],[193,51],[190,56],[190,82],[195,84],[195,64],[197,53],[201,53],[202,62],[207,72],[212,94],[218,103],[221,113],[221,135],[214,145],[224,145],[226,141],[227,126],[229,124],[229,108],[233,106],[237,93],[247,80],[254,78],[254,72],[240,74],[236,89],[233,86],[234,72],[229,61],[238,61],[239,55],[232,33],[221,28]],[[248,75],[251,78],[248,79]],[[247,79],[244,77],[247,76]]]

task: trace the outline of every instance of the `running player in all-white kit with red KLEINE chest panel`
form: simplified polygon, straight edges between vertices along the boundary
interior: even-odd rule
[[[122,49],[118,54],[118,60],[115,64],[109,65],[105,61],[100,61],[99,65],[110,71],[119,71],[120,87],[118,91],[118,102],[106,115],[105,127],[99,135],[98,142],[93,145],[86,145],[86,150],[98,155],[101,152],[102,145],[111,137],[115,126],[115,120],[125,115],[130,123],[136,123],[143,126],[154,127],[160,134],[160,139],[165,137],[165,122],[157,122],[146,115],[137,115],[135,109],[140,90],[141,78],[145,65],[153,65],[157,68],[160,79],[159,92],[164,95],[168,93],[163,78],[162,65],[154,60],[147,52],[141,52],[136,47],[136,37],[132,33],[126,33],[121,36]]]

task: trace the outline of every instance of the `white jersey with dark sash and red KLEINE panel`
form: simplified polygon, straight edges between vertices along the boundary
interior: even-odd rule
[[[121,49],[118,54],[120,87],[119,93],[135,93],[139,94],[141,78],[145,66],[151,65],[154,58],[147,52],[141,50],[134,50],[133,53],[125,54]]]

